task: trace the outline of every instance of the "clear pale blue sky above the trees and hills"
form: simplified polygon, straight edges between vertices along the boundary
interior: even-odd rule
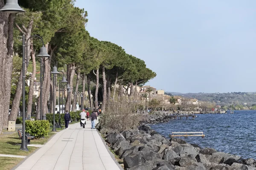
[[[255,0],[76,0],[90,35],[143,59],[165,91],[256,91]]]

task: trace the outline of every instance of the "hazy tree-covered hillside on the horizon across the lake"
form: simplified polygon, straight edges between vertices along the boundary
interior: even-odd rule
[[[215,102],[217,105],[246,105],[247,107],[256,105],[256,92],[231,92],[231,93],[175,93],[166,92],[174,96],[184,96],[186,98],[196,98],[204,102]]]

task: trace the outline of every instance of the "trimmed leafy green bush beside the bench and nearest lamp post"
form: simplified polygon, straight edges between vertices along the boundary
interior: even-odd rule
[[[50,130],[50,124],[46,120],[26,120],[25,126],[26,133],[29,133],[31,136],[35,136],[35,138],[48,136],[48,132]]]

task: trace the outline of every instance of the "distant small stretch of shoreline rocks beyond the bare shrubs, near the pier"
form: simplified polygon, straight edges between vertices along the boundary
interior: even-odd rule
[[[171,117],[168,116],[161,116],[157,114],[145,114],[141,118],[140,121],[141,124],[155,124],[155,123],[163,123],[163,122],[169,122]]]

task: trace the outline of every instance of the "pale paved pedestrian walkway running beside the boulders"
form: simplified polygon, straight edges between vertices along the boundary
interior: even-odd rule
[[[86,121],[69,125],[43,147],[29,156],[15,170],[120,170],[96,129]]]

